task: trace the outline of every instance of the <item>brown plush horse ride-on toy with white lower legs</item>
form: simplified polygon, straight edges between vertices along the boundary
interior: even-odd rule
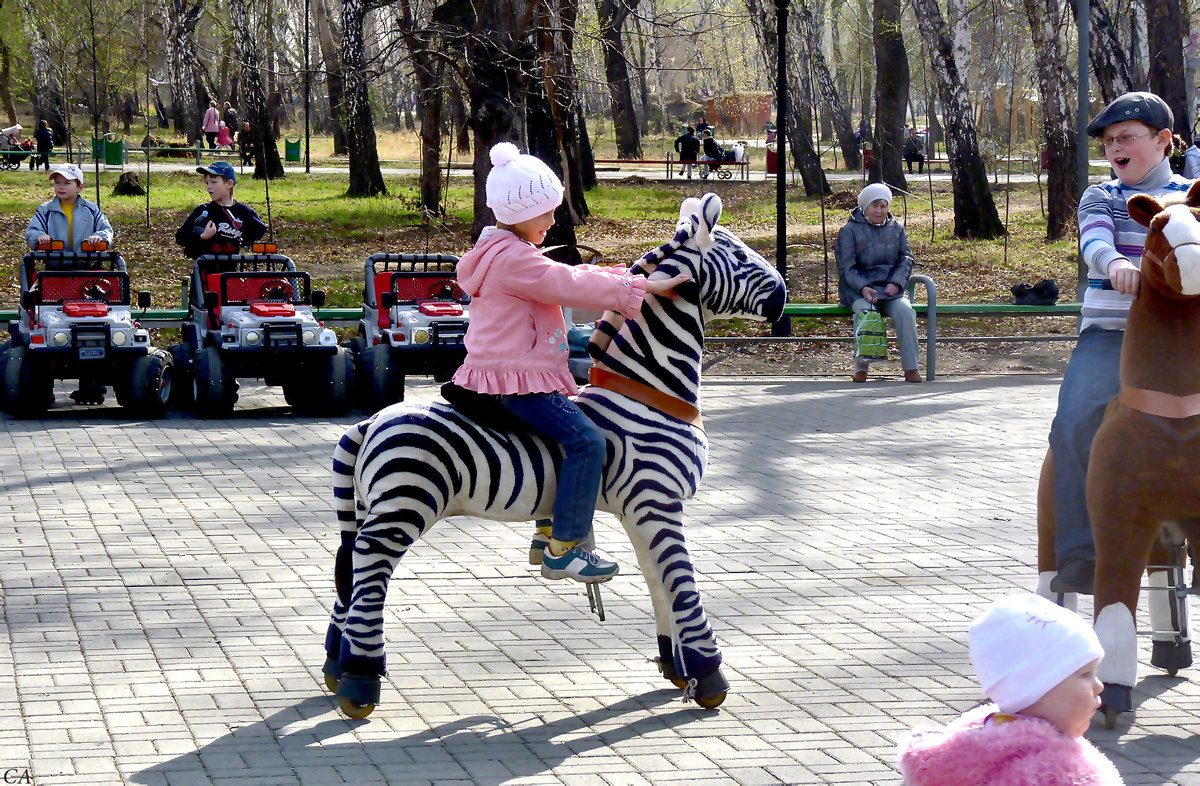
[[[1133,709],[1134,613],[1147,565],[1157,568],[1150,588],[1162,590],[1148,599],[1151,664],[1170,674],[1192,665],[1183,540],[1200,542],[1200,184],[1184,203],[1136,194],[1128,208],[1150,232],[1126,324],[1121,389],[1092,442],[1087,470],[1096,632],[1105,653],[1098,676],[1110,728]],[[1038,499],[1040,570],[1054,569],[1052,523],[1049,538],[1043,532],[1054,509],[1048,486]]]

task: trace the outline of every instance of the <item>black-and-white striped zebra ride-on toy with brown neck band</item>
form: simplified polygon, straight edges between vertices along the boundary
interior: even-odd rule
[[[718,226],[720,215],[715,194],[684,200],[674,238],[636,266],[692,281],[676,287],[674,299],[647,296],[636,319],[605,313],[590,347],[593,384],[575,400],[605,433],[598,509],[620,520],[646,576],[659,667],[709,709],[725,701],[728,683],[683,526],[684,500],[696,493],[708,456],[698,409],[704,323],[775,320],[787,299],[780,275]],[[548,518],[557,450],[442,403],[394,404],[342,436],[334,451],[341,544],[324,673],[343,713],[366,718],[379,701],[388,582],[408,548],[446,516]]]

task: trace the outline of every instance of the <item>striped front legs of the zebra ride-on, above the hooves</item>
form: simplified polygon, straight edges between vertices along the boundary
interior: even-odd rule
[[[654,605],[660,650],[670,638],[671,662],[680,679],[703,678],[721,665],[721,650],[708,625],[696,574],[683,534],[683,504],[640,506],[622,523],[637,552]],[[666,653],[660,653],[666,673]]]

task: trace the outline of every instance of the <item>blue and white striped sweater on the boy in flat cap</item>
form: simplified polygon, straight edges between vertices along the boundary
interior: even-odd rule
[[[1082,320],[1079,329],[1124,330],[1133,298],[1122,295],[1109,283],[1109,264],[1126,258],[1141,265],[1146,228],[1129,217],[1126,202],[1135,193],[1159,199],[1182,199],[1192,181],[1171,174],[1166,158],[1133,185],[1110,180],[1084,192],[1079,200],[1079,250],[1087,264],[1087,292],[1084,294]]]

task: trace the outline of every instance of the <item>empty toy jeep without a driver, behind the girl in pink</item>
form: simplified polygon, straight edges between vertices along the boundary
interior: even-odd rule
[[[372,254],[366,262],[362,322],[348,348],[362,404],[371,412],[404,400],[406,374],[454,376],[467,356],[470,298],[452,254]]]

